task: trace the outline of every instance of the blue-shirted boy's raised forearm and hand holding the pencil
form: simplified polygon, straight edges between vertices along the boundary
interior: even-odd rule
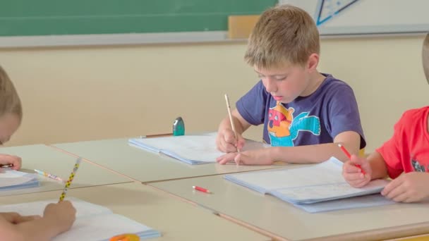
[[[226,116],[219,125],[216,137],[217,149],[221,152],[237,152],[237,148],[242,149],[245,140],[241,134],[250,127],[250,123],[244,120],[236,109],[231,114],[237,132],[237,140],[232,131],[229,116]]]

